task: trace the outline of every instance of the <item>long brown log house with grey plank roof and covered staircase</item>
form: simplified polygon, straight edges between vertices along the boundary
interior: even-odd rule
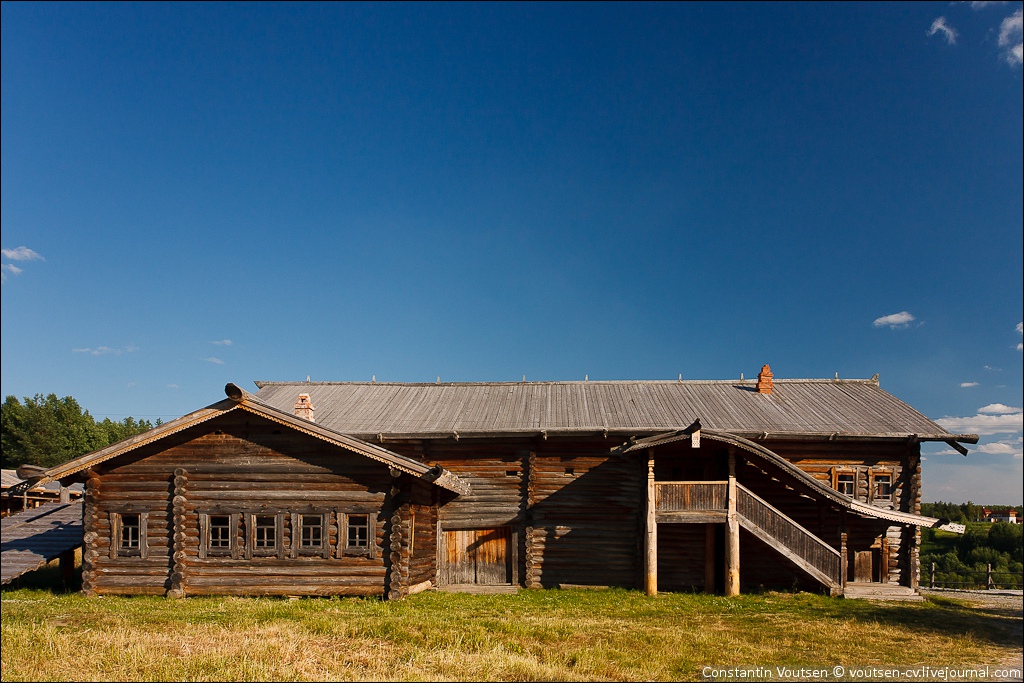
[[[921,443],[870,380],[257,382],[47,471],[87,594],[920,580]]]

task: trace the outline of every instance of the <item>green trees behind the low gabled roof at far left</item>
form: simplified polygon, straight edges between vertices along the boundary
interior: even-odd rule
[[[0,447],[4,468],[53,467],[72,458],[141,434],[162,424],[128,417],[96,422],[71,396],[36,394],[24,401],[7,396],[0,407]]]

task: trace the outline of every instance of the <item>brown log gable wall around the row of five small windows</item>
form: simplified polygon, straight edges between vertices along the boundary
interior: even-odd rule
[[[385,533],[394,512],[386,465],[252,416],[226,416],[190,431],[170,447],[112,461],[90,476],[83,572],[87,593],[165,593],[171,587],[172,511],[179,507],[183,555],[174,566],[183,574],[185,595],[384,594],[389,558]],[[183,486],[174,485],[176,469],[187,473]],[[184,499],[178,506],[172,505],[175,493]],[[144,559],[112,559],[104,552],[111,546],[110,513],[117,510],[148,512]],[[285,512],[283,542],[290,551],[291,513],[313,510],[330,512],[330,557],[291,557],[290,552],[251,559],[199,557],[201,512]],[[339,510],[376,518],[372,557],[338,557]],[[236,543],[241,547],[242,515],[238,518]]]

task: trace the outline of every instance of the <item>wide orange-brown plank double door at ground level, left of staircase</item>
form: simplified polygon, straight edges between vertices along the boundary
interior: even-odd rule
[[[511,567],[508,526],[451,529],[443,532],[441,580],[444,584],[509,585]]]

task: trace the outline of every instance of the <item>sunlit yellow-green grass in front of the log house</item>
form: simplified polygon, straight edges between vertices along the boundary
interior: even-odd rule
[[[954,601],[428,592],[373,599],[2,595],[2,679],[694,680],[714,667],[978,666],[1021,644]]]

